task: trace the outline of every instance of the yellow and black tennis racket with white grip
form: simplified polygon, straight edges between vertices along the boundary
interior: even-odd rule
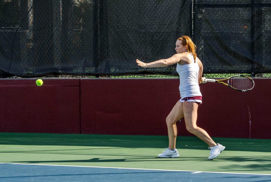
[[[222,81],[228,81],[228,83],[224,83]],[[217,83],[222,83],[223,85],[229,86],[232,89],[241,91],[241,92],[246,92],[254,87],[254,81],[251,77],[245,76],[245,75],[235,75],[229,78],[225,79],[220,79],[220,80],[215,80],[215,79],[208,79],[206,78],[207,82],[217,82]]]

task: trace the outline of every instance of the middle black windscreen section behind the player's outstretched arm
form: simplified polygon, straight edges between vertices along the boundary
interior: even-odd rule
[[[188,3],[187,3],[188,2]],[[99,73],[136,73],[136,58],[155,61],[175,53],[175,42],[190,33],[189,1],[107,1],[100,21]],[[97,45],[98,47],[98,45]],[[171,74],[175,67],[149,72]]]

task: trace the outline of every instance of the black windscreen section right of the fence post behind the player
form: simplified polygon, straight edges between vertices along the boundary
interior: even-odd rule
[[[197,0],[194,40],[208,72],[270,72],[271,1]]]

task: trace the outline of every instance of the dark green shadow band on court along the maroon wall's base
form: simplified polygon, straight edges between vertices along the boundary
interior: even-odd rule
[[[217,143],[226,150],[270,152],[270,139],[217,138]],[[165,148],[168,136],[131,136],[131,135],[91,135],[91,134],[51,134],[51,133],[0,133],[0,145],[53,145],[53,146],[95,146],[95,147],[133,147]],[[179,149],[203,149],[207,145],[197,137],[178,136]]]

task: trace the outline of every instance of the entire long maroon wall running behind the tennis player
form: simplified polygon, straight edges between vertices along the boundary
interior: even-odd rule
[[[201,84],[198,126],[210,136],[271,139],[270,79],[249,92]],[[179,79],[0,80],[0,132],[167,135]],[[178,135],[193,136],[183,120]]]

